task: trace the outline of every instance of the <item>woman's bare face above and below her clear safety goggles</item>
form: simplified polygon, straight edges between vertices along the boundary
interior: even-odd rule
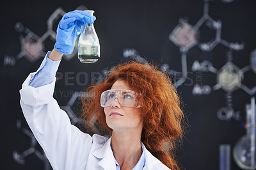
[[[111,89],[129,89],[125,81],[116,81]],[[140,114],[141,108],[124,107],[120,105],[118,99],[115,98],[112,104],[104,107],[106,122],[112,130],[142,130],[143,121]]]

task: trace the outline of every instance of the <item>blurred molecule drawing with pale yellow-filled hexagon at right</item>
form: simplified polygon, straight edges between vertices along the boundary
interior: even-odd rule
[[[254,52],[254,51],[253,51]],[[216,70],[212,66],[212,63],[209,61],[203,61],[199,63],[198,61],[194,61],[192,70],[194,72],[212,72],[217,74],[217,84],[212,86],[212,88],[208,85],[198,86],[195,84],[193,88],[193,95],[209,95],[209,93],[204,93],[204,88],[207,87],[210,91],[216,91],[218,89],[223,89],[227,92],[227,106],[222,107],[218,110],[217,116],[220,120],[230,120],[230,118],[235,118],[236,120],[240,120],[240,111],[234,111],[232,104],[232,92],[237,89],[243,89],[249,95],[254,95],[256,92],[256,86],[253,88],[248,88],[245,84],[243,84],[244,73],[253,70],[253,52],[251,53],[251,65],[244,66],[243,68],[238,68],[234,63],[232,63],[232,52],[227,52],[228,62],[222,66],[220,70]],[[208,63],[208,66],[205,67],[204,63]]]

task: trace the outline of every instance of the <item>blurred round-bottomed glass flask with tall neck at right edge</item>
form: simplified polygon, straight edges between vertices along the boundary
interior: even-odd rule
[[[255,169],[255,99],[246,105],[246,135],[234,146],[234,159],[242,169]]]

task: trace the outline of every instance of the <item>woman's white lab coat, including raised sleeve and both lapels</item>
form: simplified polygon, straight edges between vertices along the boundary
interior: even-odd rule
[[[111,139],[101,135],[84,134],[71,125],[65,111],[61,110],[52,97],[55,81],[34,88],[29,81],[35,75],[30,73],[20,89],[20,105],[36,140],[53,169],[116,169],[111,150]],[[145,146],[144,146],[145,148]],[[168,169],[145,148],[143,170]]]

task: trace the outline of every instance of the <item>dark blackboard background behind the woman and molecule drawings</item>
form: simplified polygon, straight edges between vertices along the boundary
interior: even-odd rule
[[[223,3],[220,0],[210,1],[209,15],[214,20],[221,20],[221,38],[227,42],[244,43],[244,50],[234,52],[233,63],[239,68],[250,65],[250,52],[256,49],[256,1],[235,0]],[[70,95],[61,96],[61,91],[81,91],[84,86],[76,82],[79,72],[100,72],[103,68],[116,65],[123,59],[123,50],[134,48],[141,56],[156,63],[168,63],[173,70],[181,71],[179,47],[168,39],[173,29],[179,24],[180,18],[188,19],[194,26],[202,17],[204,1],[3,1],[1,2],[1,38],[0,38],[0,115],[1,115],[1,164],[0,169],[44,169],[44,161],[31,154],[25,158],[26,164],[20,165],[13,160],[13,151],[28,150],[29,137],[17,128],[17,120],[21,127],[28,128],[19,105],[19,89],[29,72],[35,72],[42,58],[30,62],[25,57],[17,59],[14,66],[4,65],[4,56],[16,57],[20,53],[20,33],[15,31],[15,24],[21,22],[38,36],[47,31],[47,19],[57,9],[65,12],[75,10],[84,5],[95,10],[95,29],[100,38],[100,60],[94,64],[79,63],[76,56],[70,61],[63,59],[58,72],[74,77],[74,85],[65,84],[65,77],[56,83],[56,96],[60,105],[67,105]],[[199,41],[211,40],[212,30],[201,30]],[[209,39],[207,39],[209,38]],[[214,37],[212,37],[214,38]],[[54,42],[47,41],[44,51],[51,50]],[[178,149],[180,162],[186,169],[218,169],[219,145],[231,144],[246,132],[240,127],[245,121],[244,105],[250,103],[251,95],[242,89],[232,93],[235,111],[241,111],[240,121],[231,119],[221,121],[216,112],[226,106],[223,89],[212,91],[210,95],[194,96],[192,89],[196,73],[191,71],[195,60],[211,61],[213,66],[220,68],[227,62],[228,49],[217,45],[211,52],[203,52],[197,46],[189,49],[188,71],[190,80],[177,88],[184,102],[184,112],[188,116],[190,130],[186,134],[182,148]],[[89,77],[90,78],[90,77]],[[252,88],[256,85],[256,75],[248,72],[244,75],[243,84]],[[193,85],[186,85],[191,83]],[[67,81],[67,79],[66,79]],[[216,75],[203,73],[203,84],[214,86]],[[90,83],[90,81],[89,81]],[[255,95],[254,95],[255,96]],[[40,146],[36,146],[41,150]],[[232,169],[239,169],[232,158]]]

